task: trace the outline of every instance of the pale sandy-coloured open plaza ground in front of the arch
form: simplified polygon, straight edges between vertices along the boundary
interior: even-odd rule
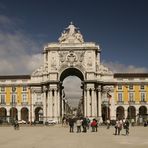
[[[98,132],[69,133],[68,127],[0,127],[0,148],[147,148],[148,128],[130,127],[130,135],[113,135],[114,128],[99,127]]]

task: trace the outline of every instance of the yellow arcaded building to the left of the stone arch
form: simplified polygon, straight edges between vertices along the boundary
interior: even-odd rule
[[[0,118],[1,120],[29,121],[30,76],[0,76]]]

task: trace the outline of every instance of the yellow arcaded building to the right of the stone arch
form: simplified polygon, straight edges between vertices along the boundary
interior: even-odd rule
[[[116,117],[145,120],[148,116],[148,74],[118,73],[114,78],[117,81],[114,89]]]

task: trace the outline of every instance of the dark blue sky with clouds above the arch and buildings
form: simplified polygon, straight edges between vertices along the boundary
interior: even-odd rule
[[[101,46],[102,62],[113,71],[148,72],[147,8],[147,0],[0,0],[0,50],[10,51],[1,51],[1,63],[13,63],[0,73],[30,73],[43,45],[56,42],[70,21],[85,41]],[[25,65],[27,57],[35,68]]]

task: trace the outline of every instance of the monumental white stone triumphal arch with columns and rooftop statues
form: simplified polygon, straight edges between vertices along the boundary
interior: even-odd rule
[[[62,83],[71,75],[82,82],[84,116],[102,116],[102,98],[108,95],[113,98],[114,86],[113,73],[101,64],[100,53],[99,45],[85,42],[80,30],[72,23],[57,43],[44,47],[43,65],[31,75],[32,101],[41,95],[44,120],[60,121],[63,116]],[[110,101],[110,108],[110,117],[115,118],[114,99]]]

